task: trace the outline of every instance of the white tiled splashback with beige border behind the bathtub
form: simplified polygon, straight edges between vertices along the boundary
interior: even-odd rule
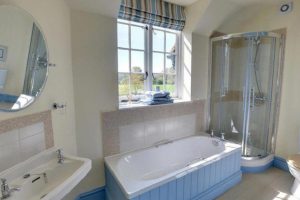
[[[105,112],[103,152],[108,156],[195,135],[205,125],[204,100]]]

